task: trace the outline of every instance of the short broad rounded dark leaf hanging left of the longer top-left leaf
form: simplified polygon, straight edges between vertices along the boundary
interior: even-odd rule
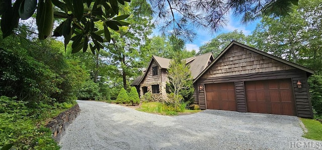
[[[32,15],[37,7],[37,0],[23,0],[19,6],[19,16],[22,20],[27,20]]]

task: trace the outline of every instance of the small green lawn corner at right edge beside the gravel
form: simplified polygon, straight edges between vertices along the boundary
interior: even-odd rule
[[[303,137],[308,139],[322,140],[322,123],[313,119],[300,118],[307,128]]]

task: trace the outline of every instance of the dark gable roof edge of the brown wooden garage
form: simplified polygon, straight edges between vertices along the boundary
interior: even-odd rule
[[[245,49],[248,49],[252,52],[255,52],[255,53],[258,53],[260,55],[264,55],[268,58],[271,58],[273,60],[276,60],[276,61],[279,61],[281,63],[284,63],[284,64],[287,64],[287,65],[290,65],[294,68],[297,68],[297,69],[300,69],[300,70],[303,70],[303,71],[306,71],[308,75],[311,75],[311,74],[314,74],[314,71],[311,70],[311,69],[308,69],[306,67],[303,67],[301,65],[298,65],[298,64],[295,64],[295,63],[292,63],[292,62],[289,62],[287,60],[284,60],[284,59],[281,59],[279,57],[276,57],[276,56],[273,56],[271,54],[268,54],[268,53],[265,53],[263,51],[260,51],[260,50],[257,50],[255,48],[252,48],[252,47],[249,47],[247,45],[244,45],[244,44],[241,44],[239,42],[236,42],[236,41],[231,41],[231,43],[215,58],[215,60],[206,68],[204,69],[195,79],[194,79],[194,83],[205,73],[209,70],[209,68],[211,68],[214,64],[216,64],[220,58],[233,46],[233,45],[237,45],[237,46],[240,46],[240,47],[243,47]]]

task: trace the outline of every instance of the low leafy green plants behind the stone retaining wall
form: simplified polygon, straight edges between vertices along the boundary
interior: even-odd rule
[[[0,145],[13,143],[14,149],[59,149],[45,127],[45,120],[56,116],[68,108],[69,103],[40,103],[38,108],[27,107],[28,102],[18,101],[16,97],[0,97]]]

